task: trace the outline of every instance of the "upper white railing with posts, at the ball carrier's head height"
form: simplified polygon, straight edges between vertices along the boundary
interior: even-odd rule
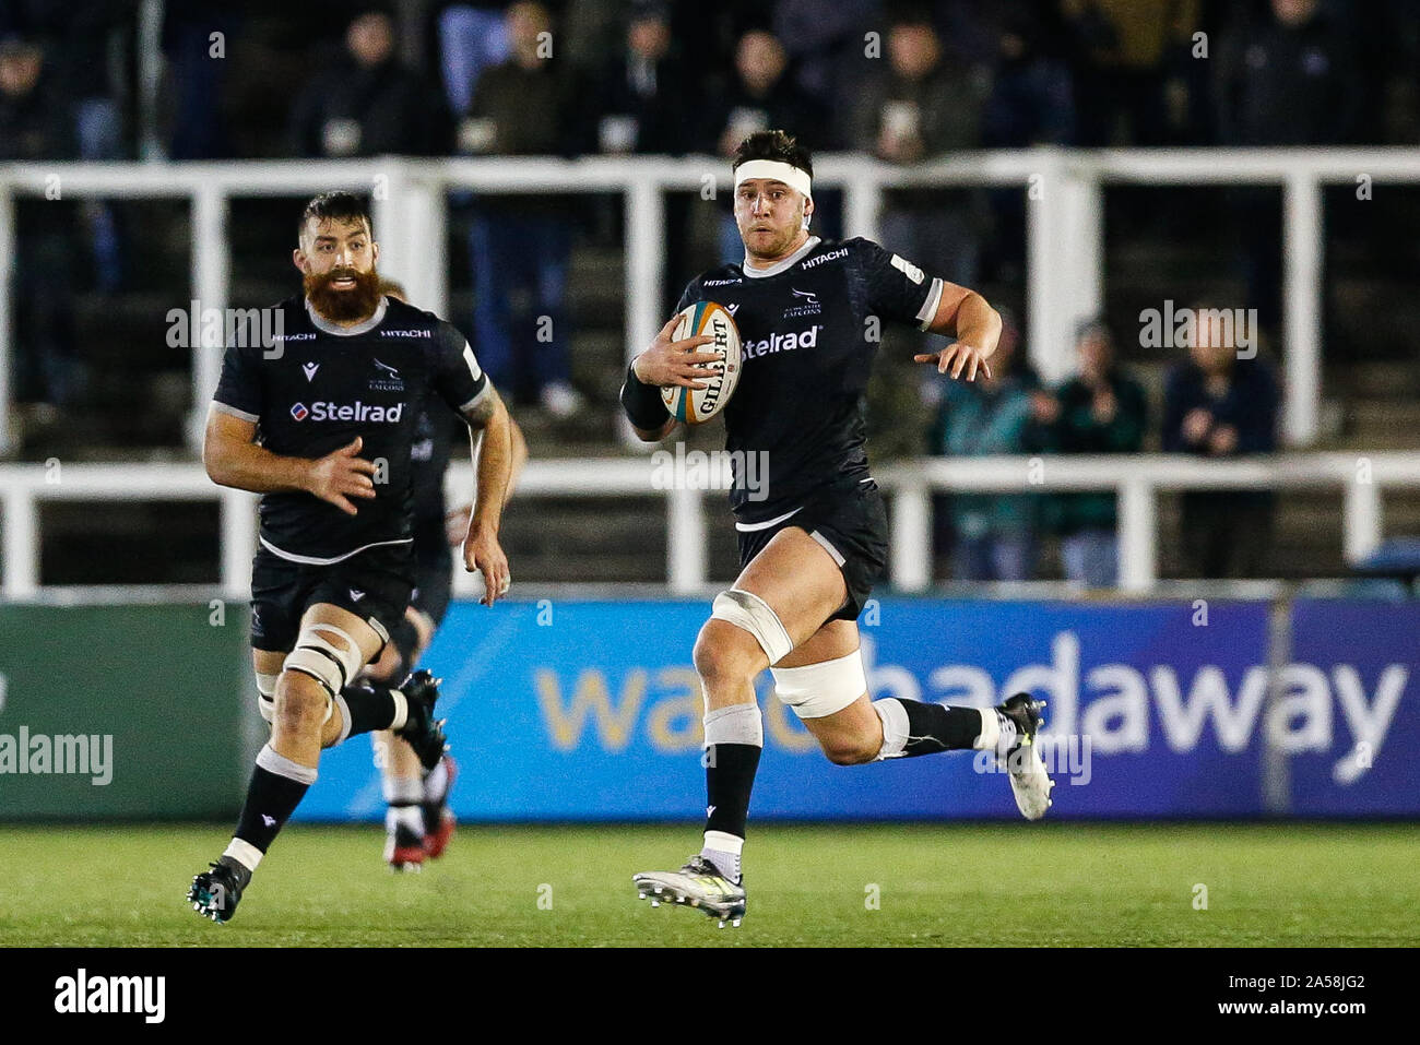
[[[1284,371],[1287,442],[1315,442],[1321,403],[1322,199],[1321,186],[1420,182],[1420,149],[1103,149],[1035,148],[958,153],[916,166],[893,166],[856,153],[815,160],[819,186],[843,189],[848,236],[876,239],[883,190],[906,186],[1028,186],[1027,345],[1048,381],[1071,368],[1075,321],[1103,301],[1102,190],[1135,185],[1279,185],[1284,189]],[[202,308],[227,304],[231,260],[226,236],[229,202],[253,196],[298,196],[335,186],[371,193],[382,268],[399,277],[415,301],[447,314],[444,227],[449,189],[483,193],[621,193],[626,212],[626,351],[648,345],[660,328],[665,273],[666,190],[728,186],[728,163],[684,159],[551,158],[369,160],[246,160],[224,163],[18,163],[0,165],[0,454],[13,444],[10,426],[10,268],[14,197],[173,197],[192,206],[189,300]],[[888,244],[892,246],[892,244]],[[1160,300],[1169,288],[1160,288]],[[175,295],[175,298],[179,295]],[[456,319],[459,319],[456,317]],[[204,338],[207,332],[204,331]],[[192,348],[192,446],[220,371],[220,345]],[[629,430],[622,429],[629,436]]]

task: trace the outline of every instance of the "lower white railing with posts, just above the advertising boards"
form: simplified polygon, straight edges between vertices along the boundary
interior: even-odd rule
[[[713,470],[710,470],[713,474]],[[1156,494],[1200,488],[1342,490],[1343,552],[1348,562],[1380,544],[1382,494],[1389,487],[1420,487],[1420,453],[1316,453],[1208,461],[1174,454],[1049,457],[924,457],[875,469],[892,501],[890,582],[900,592],[932,585],[932,491],[1059,493],[1115,490],[1119,497],[1120,589],[1143,592],[1157,581]],[[532,460],[517,497],[643,496],[665,498],[666,585],[696,593],[709,582],[706,504],[724,513],[717,490],[657,488],[665,478],[646,457]],[[452,503],[473,488],[469,463],[446,477]],[[256,496],[214,486],[199,464],[44,464],[0,466],[0,595],[33,598],[40,592],[41,501],[209,500],[222,510],[220,582],[243,598],[256,548]],[[514,574],[517,572],[517,564]],[[456,592],[474,591],[456,571]]]

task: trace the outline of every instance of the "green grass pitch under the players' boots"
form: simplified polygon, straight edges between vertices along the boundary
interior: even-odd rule
[[[694,825],[464,825],[420,875],[371,826],[288,828],[214,926],[226,825],[0,826],[0,946],[1409,946],[1420,825],[757,825],[748,916],[636,899]],[[1207,887],[1207,907],[1201,907]]]

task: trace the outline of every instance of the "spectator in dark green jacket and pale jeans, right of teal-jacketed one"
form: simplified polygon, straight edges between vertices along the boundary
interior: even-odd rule
[[[1100,319],[1075,337],[1079,371],[1055,393],[1051,443],[1059,453],[1137,453],[1143,449],[1149,402],[1143,386],[1115,359],[1115,341]],[[1065,576],[1085,588],[1119,582],[1116,497],[1108,493],[1054,498]]]

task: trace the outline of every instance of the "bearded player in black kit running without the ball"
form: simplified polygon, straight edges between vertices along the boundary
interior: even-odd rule
[[[251,567],[251,660],[271,738],[231,843],[187,899],[229,921],[271,842],[315,782],[321,750],[392,730],[426,768],[444,751],[427,672],[399,689],[352,686],[405,616],[415,586],[410,450],[436,395],[483,436],[463,561],[493,602],[508,591],[498,522],[508,413],[450,324],[379,292],[365,204],[311,200],[293,253],[304,294],[281,310],[278,351],[229,345],[203,461],[220,486],[261,494]]]

